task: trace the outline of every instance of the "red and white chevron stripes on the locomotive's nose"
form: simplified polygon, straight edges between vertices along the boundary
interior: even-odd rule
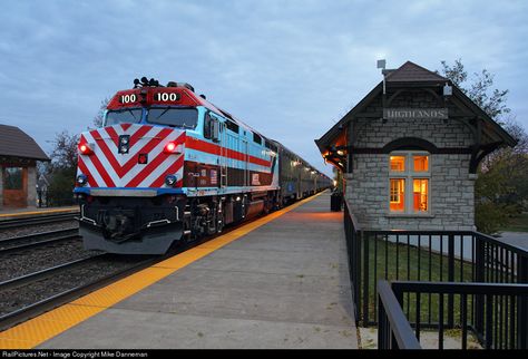
[[[129,135],[128,154],[118,153],[120,135]],[[184,154],[166,154],[168,142],[185,145],[185,132],[136,124],[120,124],[82,133],[80,145],[91,144],[94,154],[79,155],[77,174],[88,176],[90,187],[165,187],[165,176],[174,174],[182,186]],[[147,164],[138,155],[148,154]]]

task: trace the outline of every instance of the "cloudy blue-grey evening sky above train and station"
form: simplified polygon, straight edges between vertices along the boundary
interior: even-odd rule
[[[49,153],[136,77],[196,91],[330,174],[314,139],[411,60],[486,68],[528,128],[528,1],[2,1],[0,123]]]

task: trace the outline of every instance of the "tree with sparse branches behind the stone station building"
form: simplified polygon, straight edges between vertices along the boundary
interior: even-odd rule
[[[508,90],[493,88],[495,76],[483,69],[468,78],[461,59],[441,61],[441,74],[459,87],[518,140],[515,147],[499,148],[481,163],[475,185],[477,229],[495,233],[508,219],[526,211],[528,201],[528,135],[507,106]]]

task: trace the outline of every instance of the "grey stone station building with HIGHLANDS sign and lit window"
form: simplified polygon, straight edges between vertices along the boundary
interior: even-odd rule
[[[411,61],[321,138],[364,230],[475,230],[482,158],[516,140],[447,78]]]

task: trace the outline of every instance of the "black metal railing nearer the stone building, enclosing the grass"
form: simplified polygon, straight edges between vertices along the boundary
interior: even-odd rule
[[[528,283],[528,251],[472,231],[370,231],[360,229],[348,203],[344,230],[349,253],[352,297],[358,324],[379,322],[379,280],[415,282]],[[407,293],[404,310],[412,313]],[[454,328],[462,316],[462,298],[446,293],[444,328]],[[478,336],[485,331],[486,302],[470,301],[471,323]],[[439,302],[432,293],[421,298],[422,322],[433,323]],[[410,318],[412,320],[412,318]],[[527,320],[528,322],[528,317]]]

